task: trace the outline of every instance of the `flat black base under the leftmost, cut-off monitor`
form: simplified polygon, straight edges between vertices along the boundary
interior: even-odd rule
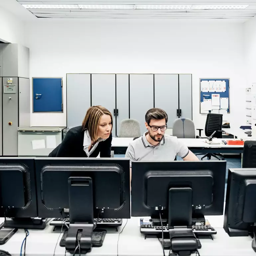
[[[49,220],[45,218],[6,218],[4,227],[44,229]]]

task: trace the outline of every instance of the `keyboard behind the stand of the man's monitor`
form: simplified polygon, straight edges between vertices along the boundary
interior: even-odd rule
[[[163,226],[164,233],[169,232],[168,226]],[[193,233],[197,235],[215,235],[217,231],[211,227],[210,225],[196,225],[192,226]],[[141,224],[140,225],[140,232],[143,234],[159,234],[162,233],[162,226],[155,226],[153,227],[152,224]]]

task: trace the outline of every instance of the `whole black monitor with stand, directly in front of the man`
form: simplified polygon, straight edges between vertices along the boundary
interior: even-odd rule
[[[173,252],[190,255],[192,223],[223,214],[225,173],[226,161],[132,162],[131,215],[167,226]]]

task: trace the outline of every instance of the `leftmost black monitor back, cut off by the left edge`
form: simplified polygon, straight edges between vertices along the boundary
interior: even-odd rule
[[[0,217],[37,217],[34,158],[0,158]]]

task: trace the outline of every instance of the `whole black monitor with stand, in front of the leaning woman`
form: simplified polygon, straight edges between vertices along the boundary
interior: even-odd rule
[[[65,247],[71,253],[78,247],[81,253],[91,250],[93,218],[130,218],[129,159],[48,157],[35,162],[38,215],[69,217]]]

